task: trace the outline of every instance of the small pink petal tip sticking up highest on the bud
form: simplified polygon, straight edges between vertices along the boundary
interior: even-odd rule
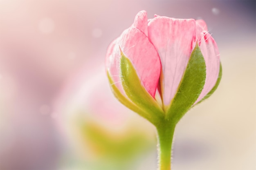
[[[133,26],[148,36],[148,17],[146,11],[139,11],[137,13]]]

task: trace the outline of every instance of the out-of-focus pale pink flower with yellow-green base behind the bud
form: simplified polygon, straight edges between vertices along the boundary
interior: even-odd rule
[[[93,63],[66,82],[54,117],[81,155],[76,166],[132,170],[155,148],[154,127],[112,97],[103,65]]]

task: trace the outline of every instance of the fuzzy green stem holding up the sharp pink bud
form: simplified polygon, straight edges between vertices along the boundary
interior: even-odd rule
[[[173,142],[173,134],[176,124],[171,124],[168,121],[162,122],[161,126],[157,127],[158,134],[158,170],[171,170],[171,149]]]

